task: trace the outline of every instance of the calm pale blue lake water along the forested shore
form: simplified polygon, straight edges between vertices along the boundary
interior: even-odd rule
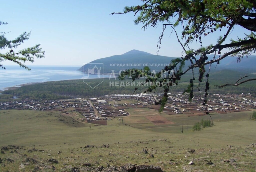
[[[80,66],[30,66],[30,71],[19,66],[5,67],[6,69],[0,68],[0,90],[26,83],[83,79],[83,73],[77,71]],[[106,75],[104,77],[109,76]],[[93,78],[97,78],[97,75],[90,75],[89,79]]]

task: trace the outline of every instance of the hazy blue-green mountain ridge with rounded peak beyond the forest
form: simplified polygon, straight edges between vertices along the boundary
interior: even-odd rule
[[[208,58],[212,59],[214,55],[209,55]],[[99,67],[99,63],[103,63],[104,73],[112,73],[114,70],[115,73],[118,73],[120,70],[125,70],[129,68],[138,68],[142,69],[144,66],[148,65],[151,70],[159,71],[169,64],[174,57],[166,57],[153,55],[148,52],[131,50],[122,55],[115,55],[110,57],[105,57],[97,60],[93,60],[90,63],[82,66],[79,71],[88,73],[90,69],[96,69]],[[199,57],[197,57],[199,58]],[[218,58],[218,57],[216,57]],[[233,70],[254,70],[256,64],[256,56],[249,56],[248,58],[241,58],[241,62],[237,62],[236,57],[226,57],[220,61],[220,64],[216,66],[216,63],[212,65],[212,69],[222,70],[222,69],[233,69]],[[189,66],[190,63],[186,62],[186,66]],[[102,66],[102,68],[103,68]],[[208,65],[206,66],[208,68]],[[98,68],[97,68],[98,69]]]

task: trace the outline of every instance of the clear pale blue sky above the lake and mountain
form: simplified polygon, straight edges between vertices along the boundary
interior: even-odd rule
[[[31,30],[30,39],[18,49],[41,44],[45,58],[35,59],[33,64],[25,63],[30,66],[82,66],[132,49],[157,54],[161,23],[157,28],[143,30],[142,25],[134,24],[136,17],[132,13],[109,15],[122,12],[124,6],[141,4],[140,0],[2,1],[0,21],[8,24],[1,25],[0,32],[9,32],[5,36],[11,40]],[[170,32],[171,29],[166,29],[158,55],[180,57],[182,48]],[[243,36],[240,27],[235,27],[230,38],[237,36]],[[218,34],[212,34],[204,43],[215,43],[217,37]],[[199,43],[191,46],[199,47]],[[15,65],[9,61],[1,63]]]

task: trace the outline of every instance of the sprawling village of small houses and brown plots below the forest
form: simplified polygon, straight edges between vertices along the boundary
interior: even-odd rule
[[[155,102],[159,99],[161,99],[160,94],[105,95],[100,98],[68,100],[26,99],[0,102],[0,110],[55,111],[81,122],[106,125],[107,120],[117,118],[122,121],[122,117],[130,115],[131,110],[145,108],[157,112],[160,105],[155,105]],[[163,112],[168,115],[203,116],[206,115],[206,109],[202,102],[201,95],[195,96],[194,100],[189,102],[187,95],[170,93]],[[251,94],[214,94],[209,95],[206,105],[209,114],[244,112],[256,110],[256,99]]]

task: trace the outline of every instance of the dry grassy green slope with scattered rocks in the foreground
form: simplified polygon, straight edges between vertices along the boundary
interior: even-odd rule
[[[246,145],[255,143],[256,121],[248,120],[248,115],[249,113],[240,116],[238,113],[228,114],[222,116],[223,120],[219,121],[216,116],[213,127],[194,132],[189,125],[186,132],[186,126],[183,126],[184,132],[181,133],[180,126],[177,125],[159,127],[153,124],[156,127],[152,127],[150,121],[146,122],[145,116],[123,117],[123,122],[125,120],[129,122],[132,118],[144,122],[136,124],[137,127],[142,125],[144,128],[138,129],[129,124],[122,124],[117,118],[109,120],[106,126],[96,126],[54,112],[2,110],[0,111],[0,147],[23,146],[23,149],[17,149],[19,154],[26,154],[27,157],[38,161],[38,163],[29,163],[22,171],[31,171],[42,163],[50,165],[47,162],[49,158],[59,160],[59,164],[54,164],[57,171],[61,171],[60,169],[66,165],[79,167],[83,171],[81,166],[83,163],[98,163],[104,167],[106,163],[118,166],[127,163],[153,164],[160,165],[164,171],[183,171],[183,167],[191,159],[196,164],[190,167],[192,171],[198,169],[253,171],[256,165],[254,160],[256,150],[255,147]],[[169,117],[173,120],[178,118],[177,115]],[[199,117],[187,118],[191,121],[199,120]],[[109,144],[110,147],[103,148],[103,144]],[[86,145],[95,145],[95,147],[84,148]],[[227,145],[234,147],[229,148]],[[28,152],[28,149],[32,148],[44,152]],[[154,158],[144,154],[143,148],[146,148],[149,154],[153,154]],[[195,153],[189,154],[188,148],[195,149]],[[58,154],[59,151],[61,153]],[[3,161],[0,163],[0,171],[20,171],[19,166],[26,157],[9,152],[10,150],[0,154],[0,158],[2,160],[11,158],[15,162]],[[209,168],[203,159],[200,160],[200,157],[207,156],[216,167]],[[235,158],[237,165],[223,164],[221,158]],[[170,165],[170,159],[177,164]],[[42,168],[40,166],[40,171],[47,171]]]

